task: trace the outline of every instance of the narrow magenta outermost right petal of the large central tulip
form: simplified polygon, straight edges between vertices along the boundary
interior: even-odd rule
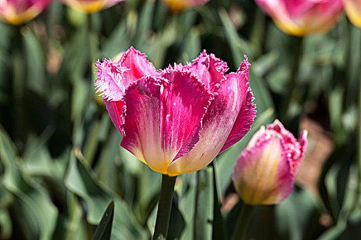
[[[248,82],[248,68],[250,64],[248,63],[247,58],[241,63],[239,71],[237,72],[237,77],[239,77],[241,82],[241,93],[239,94],[238,101],[242,104],[241,109],[239,110],[237,120],[235,121],[233,128],[224,143],[221,151],[225,151],[228,147],[234,145],[240,141],[245,134],[251,129],[251,125],[256,117],[256,105],[252,104],[253,94],[250,89],[250,84]],[[228,77],[234,77],[232,73]]]

